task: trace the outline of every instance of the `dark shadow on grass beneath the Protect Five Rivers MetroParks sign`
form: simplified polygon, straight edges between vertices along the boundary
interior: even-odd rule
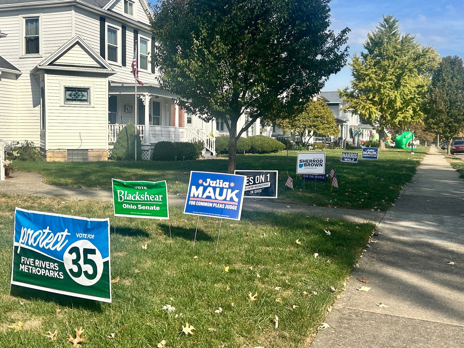
[[[49,303],[56,303],[63,307],[69,307],[73,309],[85,309],[98,313],[103,313],[101,302],[89,301],[84,298],[69,295],[61,295],[43,290],[25,288],[19,285],[11,286],[10,295],[21,297],[26,300],[41,300]]]

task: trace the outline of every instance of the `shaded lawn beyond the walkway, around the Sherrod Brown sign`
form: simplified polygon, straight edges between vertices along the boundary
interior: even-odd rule
[[[361,150],[357,150],[361,152]],[[296,151],[270,155],[238,155],[237,169],[269,169],[279,171],[279,200],[317,206],[344,206],[358,209],[387,210],[411,180],[425,155],[424,149],[411,155],[408,150],[380,151],[379,160],[358,163],[340,162],[341,150],[327,150],[327,167],[335,168],[339,188],[330,194],[330,182],[304,183],[296,178]],[[361,157],[361,155],[360,155]],[[110,161],[110,162],[14,162],[18,170],[44,175],[52,185],[99,187],[111,189],[111,178],[121,180],[167,180],[169,193],[187,193],[191,170],[226,172],[227,160],[207,161]],[[286,171],[293,177],[295,191],[284,186]],[[316,192],[315,192],[316,190]]]

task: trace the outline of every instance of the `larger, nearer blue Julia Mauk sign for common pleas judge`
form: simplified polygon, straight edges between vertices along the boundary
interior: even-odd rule
[[[240,220],[245,175],[190,172],[184,214]]]

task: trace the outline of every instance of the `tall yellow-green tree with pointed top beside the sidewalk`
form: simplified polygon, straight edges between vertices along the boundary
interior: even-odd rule
[[[421,122],[438,54],[431,47],[421,47],[414,36],[401,35],[398,19],[383,16],[350,65],[351,86],[339,92],[348,102],[347,108],[378,127],[380,148],[385,148],[386,127],[407,128],[412,122]]]

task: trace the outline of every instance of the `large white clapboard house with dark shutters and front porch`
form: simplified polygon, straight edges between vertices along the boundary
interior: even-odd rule
[[[48,161],[104,161],[136,122],[143,159],[160,141],[202,140],[215,155],[225,125],[188,115],[157,84],[150,14],[147,0],[0,0],[0,142],[32,141]]]

